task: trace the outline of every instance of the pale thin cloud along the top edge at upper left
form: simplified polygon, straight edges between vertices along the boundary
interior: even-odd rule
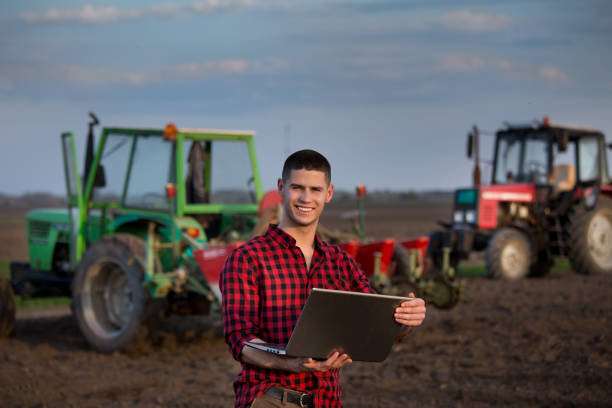
[[[163,3],[144,8],[96,7],[84,5],[73,9],[49,9],[22,14],[28,23],[101,24],[146,17],[176,18],[193,14],[212,14],[254,7],[253,0],[199,0],[191,4]]]

